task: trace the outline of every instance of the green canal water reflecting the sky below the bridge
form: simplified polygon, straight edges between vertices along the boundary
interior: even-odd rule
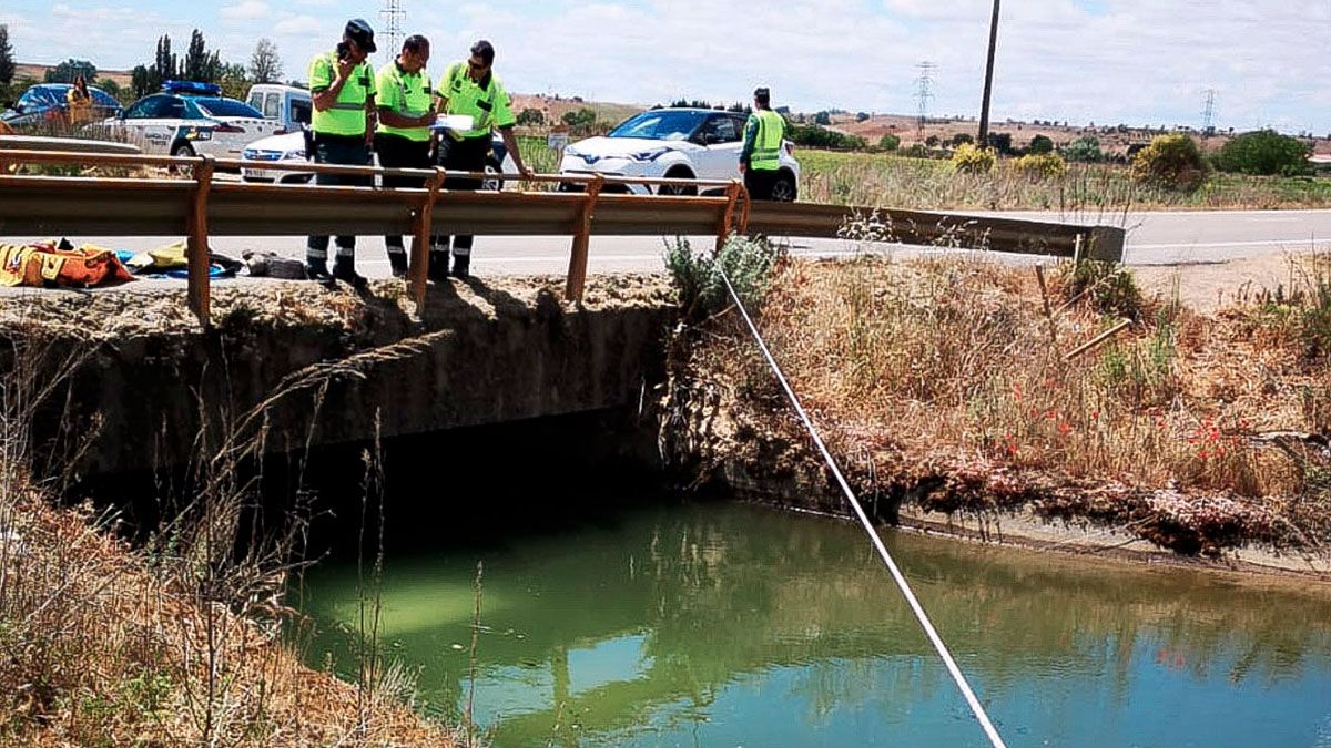
[[[886,540],[1012,747],[1331,748],[1326,590]],[[390,548],[382,636],[498,748],[988,744],[852,524],[676,506],[449,546]],[[306,598],[310,661],[350,676],[355,566]]]

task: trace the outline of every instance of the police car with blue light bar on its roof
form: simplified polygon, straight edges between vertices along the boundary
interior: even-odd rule
[[[216,84],[166,81],[161,93],[140,98],[100,126],[144,153],[240,158],[246,144],[276,133],[282,124],[222,96]]]

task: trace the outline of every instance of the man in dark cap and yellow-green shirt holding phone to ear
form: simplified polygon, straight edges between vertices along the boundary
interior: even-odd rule
[[[369,166],[374,134],[374,69],[366,59],[374,53],[374,29],[362,19],[347,21],[342,43],[310,61],[310,94],[314,100],[313,149],[315,164]],[[315,184],[374,186],[369,176],[318,174]],[[310,237],[305,250],[311,280],[346,281],[363,291],[369,281],[355,272],[355,237],[337,238],[333,273],[327,268],[329,237]]]

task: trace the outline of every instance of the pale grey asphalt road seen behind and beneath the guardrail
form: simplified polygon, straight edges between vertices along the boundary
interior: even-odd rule
[[[1004,213],[1040,221],[1103,224],[1129,232],[1126,262],[1137,266],[1206,265],[1283,252],[1331,248],[1331,210],[1267,212],[1181,212],[1106,216],[1059,216],[1057,213]],[[4,241],[25,241],[9,237]],[[71,237],[102,246],[142,252],[162,246],[172,237]],[[693,245],[709,248],[715,238],[695,237]],[[479,237],[473,256],[478,276],[562,274],[568,268],[568,237]],[[664,241],[642,237],[594,237],[590,273],[660,270]],[[287,257],[303,257],[305,240],[297,237],[214,237],[213,250],[240,257],[248,249],[273,250]],[[844,240],[796,240],[792,253],[809,257],[836,257],[865,249],[892,249],[890,245],[857,246]],[[906,253],[944,250],[894,249]],[[386,277],[389,262],[379,237],[362,237],[357,268],[370,277]]]

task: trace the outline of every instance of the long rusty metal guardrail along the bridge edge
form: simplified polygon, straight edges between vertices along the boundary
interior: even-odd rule
[[[87,178],[12,174],[11,166],[95,165],[157,169],[148,178]],[[427,290],[429,237],[572,236],[564,295],[580,301],[591,236],[715,236],[836,238],[848,221],[876,220],[881,238],[906,244],[985,248],[1002,252],[1121,260],[1122,229],[1069,226],[1009,218],[978,218],[909,210],[833,205],[751,202],[740,181],[634,178],[590,174],[500,174],[503,180],[563,182],[579,193],[451,192],[447,177],[494,178],[443,169],[378,169],[314,164],[265,165],[301,172],[413,176],[423,189],[327,188],[217,182],[217,168],[241,161],[162,156],[105,156],[0,149],[0,237],[3,236],[186,236],[189,305],[208,323],[208,238],[210,236],[385,236],[415,237],[407,278],[417,303]],[[606,194],[606,185],[672,184],[719,197]],[[852,237],[853,238],[853,237]]]

